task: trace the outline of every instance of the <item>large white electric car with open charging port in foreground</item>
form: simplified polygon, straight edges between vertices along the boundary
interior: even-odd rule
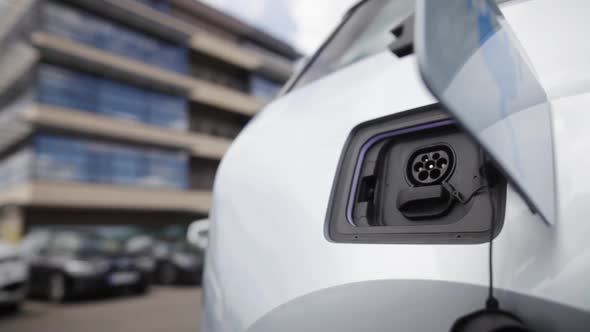
[[[221,163],[204,330],[590,329],[588,17],[354,6]]]

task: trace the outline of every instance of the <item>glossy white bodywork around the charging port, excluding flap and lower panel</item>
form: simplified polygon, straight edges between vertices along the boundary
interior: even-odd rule
[[[576,70],[590,67],[584,36],[590,8],[583,0],[558,6],[541,0],[517,1],[503,11],[552,98],[559,216],[548,226],[509,189],[495,241],[496,285],[590,311],[590,81],[588,71]],[[244,331],[290,300],[358,281],[487,285],[487,244],[360,245],[324,238],[350,130],[434,102],[413,56],[397,60],[383,52],[286,95],[251,122],[215,184],[205,270],[208,331]],[[526,310],[517,298],[502,301]]]

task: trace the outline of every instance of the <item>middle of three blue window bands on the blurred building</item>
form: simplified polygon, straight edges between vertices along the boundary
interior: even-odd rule
[[[37,99],[77,111],[187,130],[188,101],[50,65],[39,68]]]

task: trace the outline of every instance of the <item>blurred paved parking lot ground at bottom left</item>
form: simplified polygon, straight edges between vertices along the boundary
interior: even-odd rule
[[[199,288],[154,288],[146,296],[27,302],[19,314],[0,315],[0,331],[198,332],[200,317]]]

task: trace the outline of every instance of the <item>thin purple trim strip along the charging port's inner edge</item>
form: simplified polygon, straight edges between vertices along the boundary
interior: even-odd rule
[[[358,182],[359,182],[359,177],[361,174],[361,168],[363,165],[363,161],[365,160],[365,155],[367,154],[367,151],[373,145],[375,145],[377,142],[384,140],[386,138],[399,136],[399,135],[403,135],[403,134],[409,134],[409,133],[413,133],[413,132],[417,132],[417,131],[421,131],[421,130],[426,130],[426,129],[448,126],[448,125],[451,125],[454,123],[455,123],[455,120],[445,120],[445,121],[432,122],[432,123],[427,123],[427,124],[420,125],[420,126],[398,129],[398,130],[382,133],[377,136],[373,136],[370,140],[368,140],[361,148],[361,152],[359,153],[359,157],[357,159],[356,167],[354,170],[354,177],[352,178],[352,187],[351,187],[350,193],[348,195],[348,207],[346,209],[346,218],[348,219],[348,222],[351,225],[355,226],[354,221],[352,220],[352,208],[354,206],[354,198],[356,196],[356,190],[357,190],[357,186],[358,186]]]

